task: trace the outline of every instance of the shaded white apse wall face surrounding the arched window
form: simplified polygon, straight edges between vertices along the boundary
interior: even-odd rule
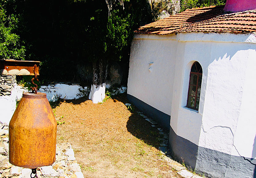
[[[183,61],[179,68],[176,68],[173,107],[171,109],[171,124],[177,122],[176,134],[186,138],[194,144],[199,144],[200,130],[202,125],[204,93],[206,88],[207,66],[211,56],[212,42],[182,42],[184,43],[184,55],[182,59],[178,59],[176,64]],[[180,53],[177,49],[177,53]],[[192,64],[198,61],[203,68],[203,78],[200,95],[199,110],[186,108],[188,96],[189,75]],[[177,114],[178,113],[178,116]],[[171,125],[173,128],[173,125]]]

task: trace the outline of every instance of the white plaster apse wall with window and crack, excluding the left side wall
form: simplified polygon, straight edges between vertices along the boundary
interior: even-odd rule
[[[179,34],[177,40],[171,127],[177,135],[201,147],[255,158],[255,35],[216,34],[214,38],[214,34]],[[232,40],[237,42],[225,42]],[[179,51],[181,43],[185,50]],[[183,59],[178,57],[182,51]],[[194,61],[203,67],[198,112],[184,107]]]

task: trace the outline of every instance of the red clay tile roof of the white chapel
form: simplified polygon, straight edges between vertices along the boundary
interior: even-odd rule
[[[136,34],[165,35],[184,32],[256,32],[256,10],[225,14],[224,6],[185,10],[168,18],[141,26]]]

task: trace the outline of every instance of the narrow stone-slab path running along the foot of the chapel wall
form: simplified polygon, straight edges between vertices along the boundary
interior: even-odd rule
[[[155,122],[150,117],[144,115],[142,112],[138,112],[138,114],[143,117],[146,121],[151,123],[152,127],[158,127],[160,138],[160,147],[158,148],[163,153],[163,159],[167,161],[167,164],[174,168],[177,173],[184,177],[184,178],[203,178],[201,176],[198,176],[196,174],[193,174],[192,172],[189,172],[186,167],[184,167],[182,164],[178,163],[177,161],[172,160],[170,152],[168,150],[168,139],[169,134],[164,133],[163,129],[159,128],[159,124]]]

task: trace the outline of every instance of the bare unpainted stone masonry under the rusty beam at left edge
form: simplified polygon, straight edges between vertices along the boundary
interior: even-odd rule
[[[15,83],[15,75],[0,75],[0,96],[10,95]]]

